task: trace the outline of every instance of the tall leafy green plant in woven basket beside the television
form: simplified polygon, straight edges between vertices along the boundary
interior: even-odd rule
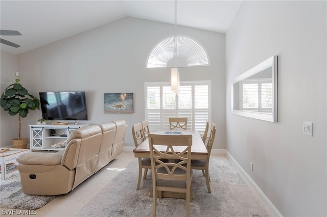
[[[20,118],[27,117],[30,110],[40,109],[40,100],[28,93],[28,91],[19,84],[19,79],[16,83],[9,85],[5,92],[1,95],[0,105],[11,116],[18,115],[18,139],[13,139],[14,148],[26,148],[28,138],[20,137]]]

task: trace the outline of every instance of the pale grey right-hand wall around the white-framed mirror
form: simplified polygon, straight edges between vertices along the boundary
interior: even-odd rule
[[[231,80],[273,55],[278,122],[232,115]],[[226,33],[226,148],[284,216],[327,215],[326,98],[326,1],[244,1]]]

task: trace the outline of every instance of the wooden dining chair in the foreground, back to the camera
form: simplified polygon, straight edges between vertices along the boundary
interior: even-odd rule
[[[161,199],[163,191],[186,194],[186,216],[190,216],[193,175],[190,168],[191,146],[192,135],[149,134],[152,216],[156,215],[157,197]],[[164,162],[162,159],[169,161]]]

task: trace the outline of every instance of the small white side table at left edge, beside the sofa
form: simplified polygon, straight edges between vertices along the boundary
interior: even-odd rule
[[[30,149],[20,149],[20,148],[4,148],[0,152],[1,161],[1,179],[5,180],[14,175],[19,174],[17,169],[16,158],[24,153],[28,153]]]

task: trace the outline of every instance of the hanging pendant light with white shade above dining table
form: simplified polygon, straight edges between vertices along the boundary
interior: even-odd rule
[[[177,54],[177,0],[174,0],[174,68],[171,68],[171,88],[176,94],[178,94],[179,88],[179,73],[176,68],[176,54]]]

